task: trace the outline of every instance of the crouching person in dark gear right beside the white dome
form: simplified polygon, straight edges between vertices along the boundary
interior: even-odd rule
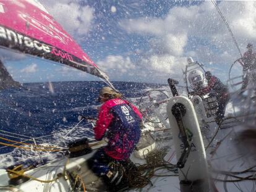
[[[205,72],[205,78],[208,81],[208,86],[204,88],[205,93],[213,93],[216,96],[218,102],[218,110],[216,111],[216,122],[220,123],[224,117],[226,105],[229,101],[228,87],[225,86],[221,80],[211,72]]]

